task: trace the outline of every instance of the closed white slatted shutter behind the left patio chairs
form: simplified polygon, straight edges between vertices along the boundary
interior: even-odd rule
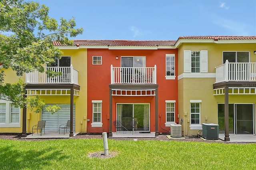
[[[58,105],[60,110],[52,114],[45,110],[49,105]],[[73,107],[73,129],[75,130],[75,104]],[[45,131],[58,132],[61,124],[66,124],[70,120],[70,104],[46,104],[42,108],[42,121],[46,121]],[[61,129],[63,131],[63,129]]]

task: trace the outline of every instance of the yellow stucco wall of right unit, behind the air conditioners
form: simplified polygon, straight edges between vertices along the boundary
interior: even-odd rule
[[[208,73],[215,73],[215,67],[222,64],[223,51],[250,51],[250,62],[256,62],[254,54],[256,44],[184,43],[178,49],[178,75],[184,73],[184,50],[208,50]],[[213,95],[214,82],[215,78],[182,78],[178,80],[179,114],[180,119],[183,119],[184,135],[197,135],[198,132],[198,130],[190,130],[190,100],[202,100],[200,124],[218,124],[217,107],[218,103],[224,103],[224,95]],[[229,95],[229,103],[256,103],[256,95]],[[184,116],[186,112],[187,116]]]

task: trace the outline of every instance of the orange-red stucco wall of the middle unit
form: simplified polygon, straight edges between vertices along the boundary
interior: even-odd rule
[[[175,72],[178,73],[178,49],[157,50],[110,50],[88,49],[88,122],[87,132],[109,132],[109,84],[110,66],[120,67],[122,56],[146,56],[146,67],[157,67],[158,84],[158,131],[168,132],[170,127],[165,126],[165,100],[176,100],[175,122],[178,123],[178,75],[174,80],[166,80],[166,54],[175,54]],[[102,56],[102,65],[92,65],[92,56]],[[118,59],[116,59],[118,56]],[[102,127],[92,127],[92,100],[102,100]],[[112,120],[116,118],[116,103],[150,103],[150,131],[155,130],[155,97],[113,97]]]

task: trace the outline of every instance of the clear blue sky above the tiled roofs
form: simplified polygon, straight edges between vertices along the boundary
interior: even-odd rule
[[[256,0],[34,0],[49,16],[76,19],[72,40],[177,40],[256,36]]]

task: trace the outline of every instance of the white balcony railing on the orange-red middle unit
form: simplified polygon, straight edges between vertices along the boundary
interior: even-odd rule
[[[156,84],[156,65],[154,67],[111,65],[111,84]]]

